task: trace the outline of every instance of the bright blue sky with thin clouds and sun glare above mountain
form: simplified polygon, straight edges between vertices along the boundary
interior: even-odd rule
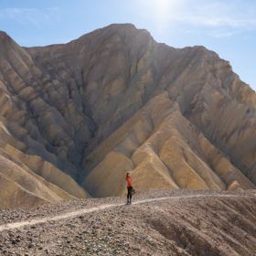
[[[256,0],[1,0],[0,30],[21,46],[66,43],[133,23],[175,48],[203,45],[256,91]]]

